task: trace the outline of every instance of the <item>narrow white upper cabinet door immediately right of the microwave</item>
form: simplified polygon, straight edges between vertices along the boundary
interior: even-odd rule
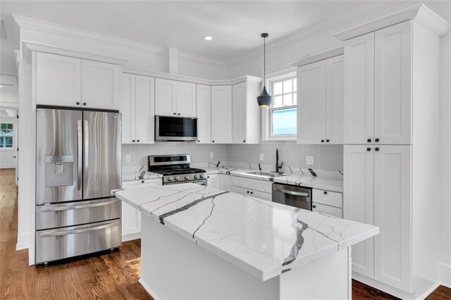
[[[211,87],[196,86],[197,142],[211,143]]]

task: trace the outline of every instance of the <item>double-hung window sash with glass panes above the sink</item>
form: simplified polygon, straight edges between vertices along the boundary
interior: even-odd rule
[[[292,137],[297,127],[297,81],[295,76],[271,82],[273,104],[269,111],[270,137]]]

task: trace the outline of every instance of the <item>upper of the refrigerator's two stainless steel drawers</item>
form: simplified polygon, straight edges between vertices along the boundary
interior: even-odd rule
[[[121,200],[117,198],[36,206],[36,230],[116,218],[121,218]]]

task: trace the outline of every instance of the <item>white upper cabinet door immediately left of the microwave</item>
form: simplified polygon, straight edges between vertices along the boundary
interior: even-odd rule
[[[136,76],[136,142],[154,144],[155,139],[155,80]]]

